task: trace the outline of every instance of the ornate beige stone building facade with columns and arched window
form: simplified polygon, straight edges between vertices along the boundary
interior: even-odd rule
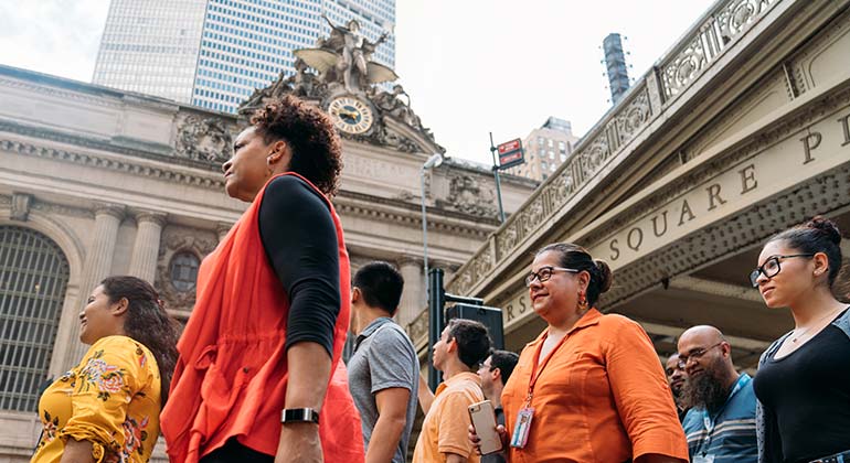
[[[348,96],[372,106],[382,134],[343,138],[333,204],[353,267],[384,259],[404,274],[405,324],[425,301],[422,165],[442,148],[421,126],[380,109],[374,94]],[[318,94],[305,98],[327,107]],[[39,387],[85,352],[78,313],[104,277],[153,281],[174,316],[191,314],[198,263],[246,207],[224,194],[221,171],[244,123],[0,66],[0,462],[29,461]],[[493,179],[447,160],[425,180],[429,263],[451,273],[498,226]],[[507,209],[534,185],[503,180]]]

